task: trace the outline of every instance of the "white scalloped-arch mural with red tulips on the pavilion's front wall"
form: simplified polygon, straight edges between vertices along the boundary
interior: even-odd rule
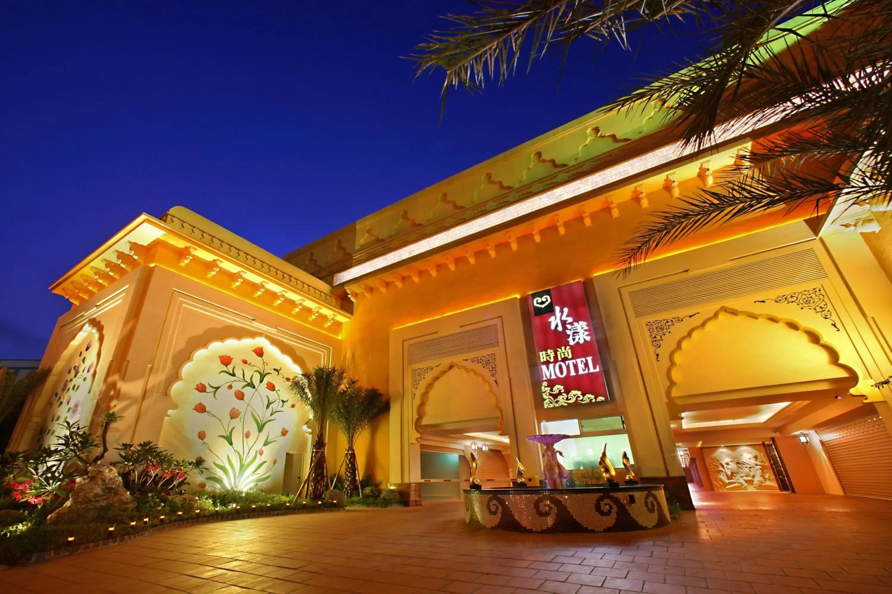
[[[178,408],[165,420],[161,446],[206,460],[200,489],[280,491],[285,453],[307,439],[301,428],[309,413],[288,391],[300,372],[266,338],[211,344],[171,389]]]

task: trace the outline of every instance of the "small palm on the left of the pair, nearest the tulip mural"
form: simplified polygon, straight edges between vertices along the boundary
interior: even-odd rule
[[[316,421],[316,440],[310,456],[310,472],[301,484],[312,499],[320,499],[331,488],[326,466],[326,427],[328,416],[344,395],[355,389],[356,382],[339,367],[318,366],[292,379],[289,389],[303,403]],[[300,493],[299,492],[299,493]]]

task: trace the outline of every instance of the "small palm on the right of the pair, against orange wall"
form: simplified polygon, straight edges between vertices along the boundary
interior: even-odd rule
[[[347,449],[343,452],[343,493],[353,497],[356,493],[362,496],[359,489],[359,463],[353,446],[356,438],[365,431],[372,421],[384,414],[390,403],[374,387],[356,386],[343,395],[343,398],[332,407],[331,417],[341,428],[347,438]]]

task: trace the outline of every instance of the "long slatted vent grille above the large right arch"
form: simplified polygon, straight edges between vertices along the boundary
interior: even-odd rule
[[[824,278],[827,273],[809,248],[636,289],[629,300],[635,317],[641,317]]]

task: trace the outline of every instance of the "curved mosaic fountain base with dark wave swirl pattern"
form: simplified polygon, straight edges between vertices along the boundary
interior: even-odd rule
[[[669,525],[662,484],[465,490],[465,521],[532,533],[628,532]]]

